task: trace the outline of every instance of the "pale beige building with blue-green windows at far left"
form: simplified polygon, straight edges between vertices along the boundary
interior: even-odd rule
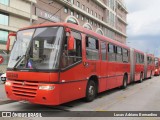
[[[6,54],[8,34],[30,25],[31,3],[36,1],[0,0],[0,73],[6,71],[8,64],[9,55]],[[32,19],[37,20],[37,17],[32,15]],[[13,40],[11,42],[13,44]]]

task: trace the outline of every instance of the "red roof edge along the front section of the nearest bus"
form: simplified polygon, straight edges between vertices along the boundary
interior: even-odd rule
[[[39,24],[39,25],[33,25],[33,26],[25,27],[25,28],[22,28],[20,30],[31,29],[31,28],[39,28],[39,27],[51,27],[51,26],[69,27],[69,28],[75,29],[77,31],[80,31],[82,33],[94,36],[94,37],[96,37],[96,38],[98,38],[100,40],[105,40],[105,41],[110,42],[112,44],[116,44],[118,46],[121,46],[123,48],[130,49],[130,47],[126,46],[125,44],[122,44],[122,43],[120,43],[118,41],[115,41],[115,40],[112,40],[112,39],[110,39],[110,38],[108,38],[106,36],[103,36],[103,35],[100,35],[98,33],[95,33],[92,30],[88,30],[86,28],[83,28],[82,26],[79,26],[79,25],[76,25],[76,24],[72,24],[72,23],[45,23],[45,24]]]

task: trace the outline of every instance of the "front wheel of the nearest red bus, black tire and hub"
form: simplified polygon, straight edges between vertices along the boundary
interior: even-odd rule
[[[85,99],[87,102],[91,102],[95,99],[96,95],[97,95],[96,83],[93,80],[90,80],[87,84]]]

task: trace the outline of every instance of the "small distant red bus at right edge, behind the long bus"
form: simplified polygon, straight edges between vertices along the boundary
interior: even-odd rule
[[[155,57],[155,70],[154,70],[154,76],[160,75],[160,59],[158,57]]]

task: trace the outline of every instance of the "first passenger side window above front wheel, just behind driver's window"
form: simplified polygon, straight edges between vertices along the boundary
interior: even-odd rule
[[[99,43],[92,37],[86,37],[86,57],[88,60],[99,60]]]

